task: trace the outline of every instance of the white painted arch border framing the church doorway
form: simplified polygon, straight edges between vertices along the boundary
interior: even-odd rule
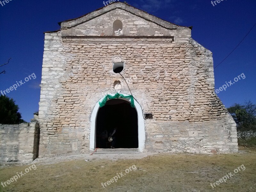
[[[116,94],[116,93],[115,93]],[[115,94],[109,94],[111,96],[114,96]],[[127,94],[121,93],[124,96],[128,96]],[[105,97],[101,98],[99,101],[102,101]],[[123,99],[126,101],[131,102],[131,99],[129,98],[119,98]],[[109,100],[109,99],[108,99]],[[97,114],[100,109],[100,104],[99,101],[96,103],[95,107],[93,108],[92,111],[92,116],[91,116],[91,129],[90,129],[90,150],[94,150],[96,147],[96,119],[97,119]],[[143,118],[143,113],[140,107],[140,104],[134,100],[134,106],[137,111],[138,115],[138,140],[139,140],[139,152],[143,152],[143,149],[145,148],[145,124],[144,124],[144,118]]]

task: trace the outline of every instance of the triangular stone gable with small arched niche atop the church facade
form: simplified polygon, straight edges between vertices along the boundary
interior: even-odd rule
[[[114,29],[114,22],[124,29]],[[125,3],[117,2],[82,17],[59,23],[62,36],[172,36],[173,30],[186,28],[159,19]],[[119,33],[119,34],[120,34]]]

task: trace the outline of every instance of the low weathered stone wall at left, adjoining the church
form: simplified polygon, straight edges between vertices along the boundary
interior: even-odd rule
[[[0,124],[0,163],[33,161],[38,157],[39,124]]]

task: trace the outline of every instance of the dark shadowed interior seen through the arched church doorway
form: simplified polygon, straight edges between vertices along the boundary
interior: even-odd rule
[[[110,148],[108,137],[115,127],[115,148],[138,148],[137,111],[128,101],[111,99],[99,109],[96,119],[97,148]]]

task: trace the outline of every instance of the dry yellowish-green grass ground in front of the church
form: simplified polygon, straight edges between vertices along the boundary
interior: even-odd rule
[[[256,149],[225,155],[161,154],[143,159],[117,161],[72,160],[57,164],[36,165],[0,191],[17,192],[85,192],[85,191],[256,191]],[[244,165],[245,170],[234,170]],[[132,167],[132,165],[135,166]],[[9,166],[0,169],[0,182],[9,180],[16,172],[25,172],[30,165]],[[125,169],[129,169],[125,173]],[[134,169],[133,169],[134,168]],[[127,170],[126,170],[127,171]],[[124,175],[121,177],[121,172]],[[128,172],[128,171],[127,171]],[[213,189],[210,183],[232,172],[233,177]],[[117,182],[103,188],[115,176]],[[113,180],[112,180],[113,181]],[[103,184],[104,185],[104,184]]]

